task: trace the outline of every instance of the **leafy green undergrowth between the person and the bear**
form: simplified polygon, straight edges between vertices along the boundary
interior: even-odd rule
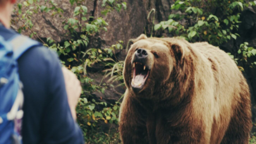
[[[51,37],[46,41],[41,40],[44,45],[49,47],[52,51],[56,51],[61,57],[63,66],[71,69],[73,73],[78,76],[82,83],[82,95],[76,107],[78,114],[78,124],[83,130],[83,135],[87,143],[119,143],[119,136],[117,129],[109,129],[108,133],[104,133],[101,129],[102,123],[118,124],[119,102],[115,104],[107,104],[95,100],[94,92],[104,93],[109,87],[114,87],[108,83],[95,83],[95,81],[88,77],[87,68],[93,67],[95,64],[104,66],[105,76],[102,78],[111,79],[108,81],[123,80],[121,71],[123,63],[118,61],[115,56],[115,51],[123,49],[123,41],[119,40],[116,44],[105,49],[95,49],[88,47],[90,38],[94,37],[101,30],[107,31],[108,23],[102,17],[93,17],[88,15],[88,9],[83,4],[82,0],[70,0],[70,6],[75,6],[74,15],[71,18],[63,16],[63,9],[59,8],[54,1],[44,1],[44,5],[36,0],[24,1],[19,3],[15,8],[15,14],[18,16],[17,20],[12,20],[13,24],[22,21],[23,25],[18,28],[18,32],[29,30],[30,37],[34,35],[40,39],[36,32],[34,32],[34,24],[32,23],[32,15],[39,15],[40,13],[51,13],[51,16],[59,16],[62,21],[66,35],[71,36],[71,39],[64,42],[55,42]],[[126,9],[126,3],[120,3],[118,0],[104,0],[102,1],[102,15],[116,10]],[[21,12],[21,9],[25,13]],[[83,52],[84,51],[84,52]],[[123,83],[121,84],[123,85]],[[119,87],[118,85],[116,87]],[[121,96],[121,95],[120,95]],[[112,142],[110,142],[112,141]]]

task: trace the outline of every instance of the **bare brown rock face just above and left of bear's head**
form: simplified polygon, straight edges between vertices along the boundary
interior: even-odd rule
[[[102,45],[103,47],[110,47],[118,40],[123,40],[125,46],[129,39],[143,33],[146,26],[147,11],[142,1],[128,0],[126,6],[126,10],[114,11],[104,17],[104,20],[109,23],[109,27],[107,27],[107,32],[101,31],[100,33],[101,38],[106,42]],[[101,10],[102,8],[99,8],[97,13],[100,13]]]

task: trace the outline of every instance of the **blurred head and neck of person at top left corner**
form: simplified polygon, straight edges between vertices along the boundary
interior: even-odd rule
[[[0,21],[4,27],[10,27],[11,11],[13,11],[13,5],[16,0],[0,0]]]

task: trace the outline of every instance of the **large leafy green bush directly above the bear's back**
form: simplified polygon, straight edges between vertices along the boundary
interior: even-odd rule
[[[219,13],[211,13],[216,4],[221,4],[217,7]],[[235,30],[241,22],[239,18],[243,5],[243,1],[176,1],[171,9],[179,10],[181,14],[169,15],[168,21],[161,21],[154,29],[168,30],[190,42],[207,41],[218,46],[239,36]],[[236,8],[240,11],[235,12]],[[186,22],[181,23],[181,20]]]

